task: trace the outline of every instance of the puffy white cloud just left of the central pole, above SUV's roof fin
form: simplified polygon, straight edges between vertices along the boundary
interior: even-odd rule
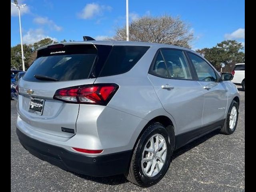
[[[89,4],[86,4],[82,12],[78,13],[78,17],[82,19],[90,19],[95,16],[102,15],[105,10],[111,11],[112,7],[99,5],[96,3],[89,3]]]

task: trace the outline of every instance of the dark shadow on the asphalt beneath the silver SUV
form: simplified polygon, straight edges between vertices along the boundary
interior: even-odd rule
[[[187,152],[188,150],[200,145],[201,143],[205,142],[206,140],[212,138],[215,135],[218,135],[219,131],[215,130],[209,134],[206,134],[205,136],[202,136],[201,138],[198,138],[196,140],[194,140],[193,142],[186,144],[185,146],[183,146],[182,148],[179,148],[178,150],[174,151],[173,155],[172,155],[172,160],[174,160],[175,158],[177,158],[178,156],[184,154],[185,152]],[[86,180],[90,180],[93,182],[98,182],[101,184],[106,184],[106,185],[119,185],[119,184],[124,184],[126,182],[128,182],[128,180],[126,180],[126,178],[124,177],[124,175],[116,175],[116,176],[108,176],[108,177],[92,177],[92,176],[86,176],[86,175],[82,175],[82,174],[77,174],[74,172],[71,172],[72,174],[86,179]]]

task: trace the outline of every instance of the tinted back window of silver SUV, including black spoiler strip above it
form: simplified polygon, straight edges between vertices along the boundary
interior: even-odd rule
[[[69,81],[88,78],[97,50],[93,45],[66,45],[61,48],[44,48],[38,51],[38,58],[28,68],[24,80],[40,82],[34,75]]]

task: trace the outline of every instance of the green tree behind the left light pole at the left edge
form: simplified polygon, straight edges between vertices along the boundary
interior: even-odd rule
[[[28,68],[28,60],[33,52],[31,45],[23,45],[24,56],[25,56],[25,68]],[[22,70],[22,59],[21,59],[21,47],[20,44],[11,47],[11,68]]]

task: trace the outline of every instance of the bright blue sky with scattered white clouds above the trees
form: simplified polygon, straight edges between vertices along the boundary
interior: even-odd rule
[[[18,0],[24,43],[50,37],[61,41],[112,37],[125,25],[125,0]],[[129,0],[130,21],[144,15],[170,14],[190,24],[192,49],[211,48],[226,39],[244,44],[244,0]],[[20,43],[18,14],[11,5],[11,46]]]

